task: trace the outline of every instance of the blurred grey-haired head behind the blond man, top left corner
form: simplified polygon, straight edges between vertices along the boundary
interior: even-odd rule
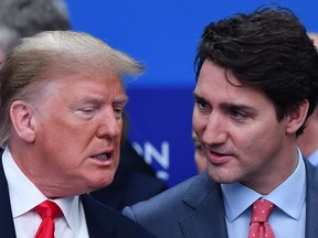
[[[63,0],[1,0],[0,61],[21,37],[70,29],[68,10]]]

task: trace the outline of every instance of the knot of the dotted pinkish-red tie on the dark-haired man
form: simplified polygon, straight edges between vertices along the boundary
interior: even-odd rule
[[[275,205],[267,199],[257,199],[252,205],[251,223],[267,223]]]

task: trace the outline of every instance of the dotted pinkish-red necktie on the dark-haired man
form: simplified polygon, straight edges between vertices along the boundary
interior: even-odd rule
[[[257,199],[252,206],[248,238],[275,238],[268,224],[268,217],[275,205],[266,199]]]

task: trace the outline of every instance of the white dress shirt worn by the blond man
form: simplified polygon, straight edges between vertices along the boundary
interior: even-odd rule
[[[9,186],[17,237],[34,237],[42,219],[32,209],[47,198],[21,172],[8,148],[3,152],[2,163]],[[64,214],[55,218],[55,237],[88,238],[85,214],[78,196],[57,198],[54,202]]]

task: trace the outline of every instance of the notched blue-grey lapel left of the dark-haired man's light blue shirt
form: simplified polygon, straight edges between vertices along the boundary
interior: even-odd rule
[[[227,238],[221,186],[206,173],[192,184],[183,202],[194,209],[179,221],[186,238],[198,234],[200,238]]]

